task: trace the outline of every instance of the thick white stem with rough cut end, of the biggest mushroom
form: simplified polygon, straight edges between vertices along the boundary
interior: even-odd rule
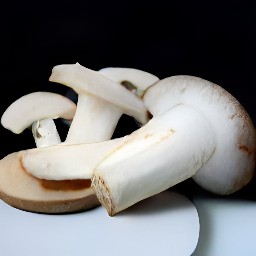
[[[130,135],[94,170],[92,187],[110,216],[193,176],[211,157],[207,118],[178,105]]]

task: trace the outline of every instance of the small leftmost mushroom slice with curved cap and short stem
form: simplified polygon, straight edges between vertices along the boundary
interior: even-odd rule
[[[32,126],[36,145],[50,146],[60,143],[52,119],[72,120],[75,111],[75,103],[60,94],[33,92],[14,101],[2,115],[1,124],[16,134]]]

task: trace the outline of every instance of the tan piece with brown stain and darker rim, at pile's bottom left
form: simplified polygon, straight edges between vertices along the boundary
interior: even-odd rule
[[[7,204],[40,213],[75,212],[99,205],[90,180],[37,179],[23,168],[23,154],[12,153],[0,161],[0,197]]]

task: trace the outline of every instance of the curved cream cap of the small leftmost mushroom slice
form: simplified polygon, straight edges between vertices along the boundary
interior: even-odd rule
[[[35,121],[47,118],[72,120],[76,104],[63,95],[52,92],[33,92],[14,101],[1,118],[3,127],[22,133]]]

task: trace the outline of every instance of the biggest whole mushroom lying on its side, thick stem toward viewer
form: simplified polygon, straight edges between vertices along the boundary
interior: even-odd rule
[[[175,76],[150,87],[144,101],[153,119],[137,134],[146,141],[157,130],[165,133],[153,144],[143,141],[145,147],[137,140],[126,143],[96,167],[92,186],[109,215],[190,177],[217,194],[234,193],[251,180],[255,129],[226,90],[200,78]],[[145,132],[149,126],[155,129]]]

